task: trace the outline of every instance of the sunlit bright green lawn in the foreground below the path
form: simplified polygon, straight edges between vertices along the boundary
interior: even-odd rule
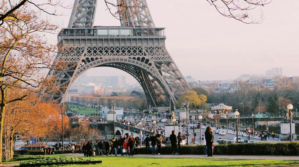
[[[70,154],[68,154],[70,155]],[[66,154],[59,154],[59,157],[68,156]],[[103,156],[93,157],[94,160],[102,160],[102,164],[91,165],[57,165],[58,166],[72,166],[72,167],[118,167],[118,166],[151,166],[151,167],[177,167],[177,166],[205,166],[205,167],[251,167],[251,166],[294,166],[299,165],[298,160],[244,160],[244,159],[212,159],[212,158],[158,158],[158,157],[115,157]],[[19,161],[13,161],[19,162]],[[157,163],[157,164],[152,164]],[[151,165],[152,164],[152,165]]]

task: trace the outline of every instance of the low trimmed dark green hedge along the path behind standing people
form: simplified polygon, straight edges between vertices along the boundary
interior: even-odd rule
[[[137,148],[138,154],[146,154],[146,148]],[[151,151],[151,148],[150,148]],[[158,151],[156,149],[156,151]],[[204,145],[183,145],[181,154],[204,154]],[[147,153],[150,154],[150,153]],[[161,154],[171,154],[171,146],[161,147]],[[215,155],[299,155],[299,142],[292,143],[234,143],[215,145]]]

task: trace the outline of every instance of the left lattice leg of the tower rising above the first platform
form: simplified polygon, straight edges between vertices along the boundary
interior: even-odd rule
[[[68,27],[92,27],[97,0],[75,0]]]

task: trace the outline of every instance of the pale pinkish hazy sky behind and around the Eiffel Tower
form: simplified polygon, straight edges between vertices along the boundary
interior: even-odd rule
[[[166,27],[168,52],[181,73],[196,80],[235,79],[274,67],[282,67],[285,76],[299,76],[299,0],[283,2],[262,7],[262,24],[244,24],[220,15],[206,0],[147,0],[155,26]],[[67,27],[70,13],[56,20]],[[98,0],[94,25],[120,25],[103,0]],[[108,67],[93,68],[88,75],[130,76]]]

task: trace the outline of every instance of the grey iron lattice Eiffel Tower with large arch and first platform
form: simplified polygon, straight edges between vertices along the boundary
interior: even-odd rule
[[[142,86],[148,105],[174,106],[179,95],[190,90],[184,76],[165,48],[165,28],[155,27],[146,0],[118,0],[124,12],[121,26],[93,26],[97,0],[75,0],[68,23],[58,34],[56,63],[67,71],[50,70],[60,92],[53,99],[63,102],[72,83],[94,67],[126,71]],[[129,7],[130,6],[130,7]]]

